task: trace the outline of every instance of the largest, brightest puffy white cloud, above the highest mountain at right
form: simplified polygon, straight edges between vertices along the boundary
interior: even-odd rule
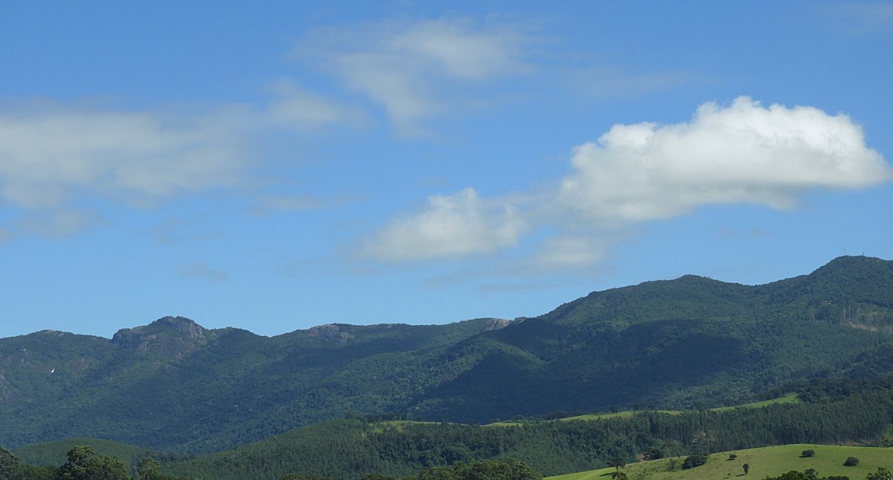
[[[789,208],[807,190],[891,178],[846,115],[768,108],[739,97],[705,103],[688,123],[615,125],[574,149],[557,207],[600,224],[668,219],[716,203]]]

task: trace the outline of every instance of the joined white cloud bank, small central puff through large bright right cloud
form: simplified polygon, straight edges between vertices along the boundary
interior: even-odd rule
[[[705,103],[689,122],[615,125],[573,149],[571,164],[547,192],[485,199],[468,188],[432,196],[421,213],[381,229],[364,253],[417,261],[515,249],[514,261],[538,272],[585,268],[603,261],[640,222],[707,204],[789,209],[809,191],[893,179],[846,115],[764,107],[745,96],[728,107]],[[518,252],[526,234],[536,234],[538,245]]]

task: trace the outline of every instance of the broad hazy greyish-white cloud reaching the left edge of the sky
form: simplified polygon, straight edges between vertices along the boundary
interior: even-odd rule
[[[22,212],[5,237],[61,237],[101,223],[94,199],[144,208],[190,194],[250,190],[266,208],[319,205],[265,194],[250,145],[266,132],[362,121],[352,109],[283,83],[266,105],[128,111],[32,101],[0,109],[0,203]],[[86,202],[85,202],[86,200]]]

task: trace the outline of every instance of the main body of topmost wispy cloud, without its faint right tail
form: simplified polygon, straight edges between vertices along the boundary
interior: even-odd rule
[[[359,29],[316,29],[296,48],[351,90],[380,103],[402,133],[455,108],[463,86],[528,69],[527,38],[463,19],[388,21]]]

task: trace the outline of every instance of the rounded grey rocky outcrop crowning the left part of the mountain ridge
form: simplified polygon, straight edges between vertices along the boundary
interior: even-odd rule
[[[122,328],[112,343],[138,353],[160,353],[180,359],[208,343],[207,330],[184,317],[164,317],[149,325]]]

